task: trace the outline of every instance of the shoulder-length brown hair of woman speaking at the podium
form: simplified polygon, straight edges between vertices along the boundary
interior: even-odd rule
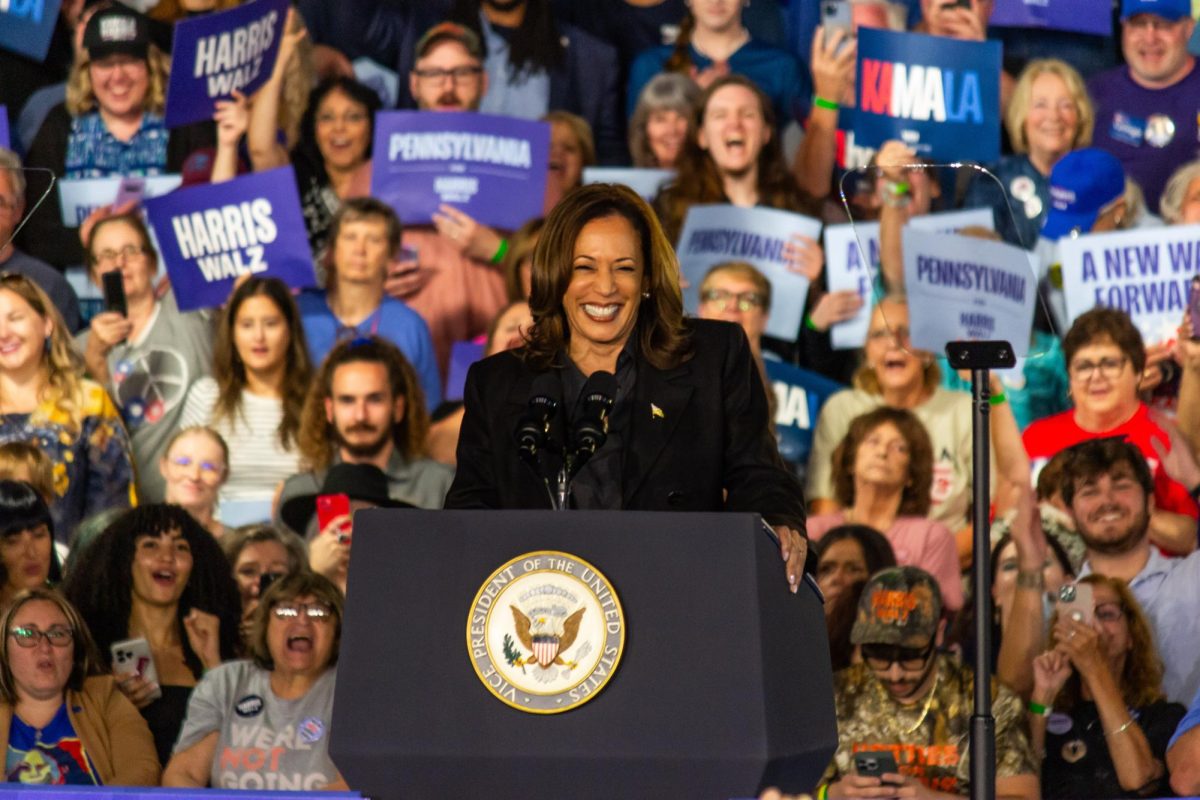
[[[642,299],[631,333],[641,356],[658,369],[671,369],[691,357],[691,338],[683,321],[679,261],[654,211],[628,186],[592,184],[559,200],[546,217],[533,251],[533,327],[522,353],[538,369],[556,366],[570,339],[563,295],[574,276],[575,242],[589,222],[605,217],[624,217],[641,241],[649,297]]]

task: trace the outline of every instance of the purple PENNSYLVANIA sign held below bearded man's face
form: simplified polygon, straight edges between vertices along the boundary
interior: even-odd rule
[[[443,203],[515,230],[542,216],[550,125],[474,112],[376,115],[371,194],[406,225],[430,224]]]

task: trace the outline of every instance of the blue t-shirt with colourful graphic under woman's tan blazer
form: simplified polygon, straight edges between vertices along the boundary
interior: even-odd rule
[[[88,757],[64,703],[50,723],[38,730],[13,715],[5,754],[10,783],[100,786],[100,774]]]

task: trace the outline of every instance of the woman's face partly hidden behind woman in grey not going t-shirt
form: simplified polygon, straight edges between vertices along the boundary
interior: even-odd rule
[[[308,569],[304,540],[271,525],[246,525],[221,541],[241,593],[241,637],[251,645],[251,626],[258,601],[268,587]]]

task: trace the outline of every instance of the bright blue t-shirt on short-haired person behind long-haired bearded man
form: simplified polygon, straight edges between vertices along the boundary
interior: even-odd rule
[[[433,353],[430,326],[420,314],[400,300],[384,297],[374,313],[358,325],[343,325],[334,315],[323,290],[301,291],[296,297],[296,306],[300,307],[300,320],[314,365],[324,361],[342,339],[378,336],[398,347],[413,365],[425,392],[425,405],[432,410],[442,402],[442,375]]]

